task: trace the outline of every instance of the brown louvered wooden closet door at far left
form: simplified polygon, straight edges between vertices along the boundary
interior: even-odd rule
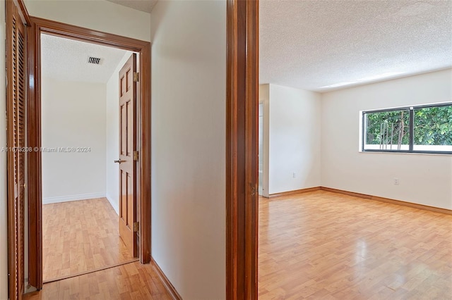
[[[18,8],[7,5],[8,273],[10,299],[24,292],[26,37]]]

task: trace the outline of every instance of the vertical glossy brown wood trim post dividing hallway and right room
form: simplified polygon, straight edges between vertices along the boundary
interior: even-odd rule
[[[258,0],[227,1],[226,297],[258,292]]]

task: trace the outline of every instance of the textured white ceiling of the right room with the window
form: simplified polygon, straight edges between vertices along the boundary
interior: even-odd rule
[[[263,0],[259,18],[261,83],[323,92],[452,65],[448,0]]]

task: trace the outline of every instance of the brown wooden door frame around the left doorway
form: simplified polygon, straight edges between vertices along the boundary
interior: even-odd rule
[[[52,20],[30,17],[28,39],[29,101],[28,146],[41,148],[41,33],[76,39],[83,42],[112,46],[139,53],[140,72],[137,94],[137,202],[140,216],[140,261],[150,263],[151,194],[150,194],[150,42],[121,37]],[[29,282],[42,289],[42,162],[40,151],[28,156],[28,211],[29,211]]]

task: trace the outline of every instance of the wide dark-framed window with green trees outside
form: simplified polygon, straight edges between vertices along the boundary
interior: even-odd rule
[[[452,103],[363,111],[362,151],[452,154]]]

